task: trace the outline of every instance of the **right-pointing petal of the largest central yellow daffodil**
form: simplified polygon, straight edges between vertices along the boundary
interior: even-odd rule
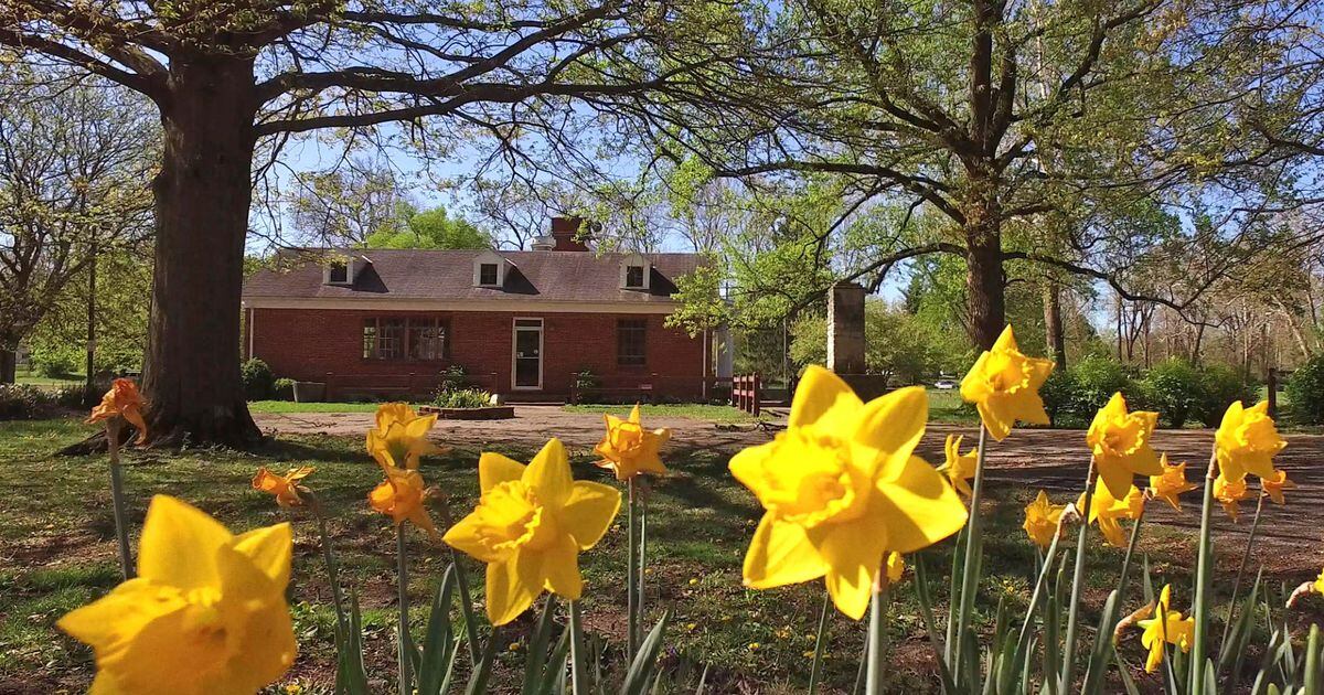
[[[875,504],[887,528],[887,549],[911,553],[927,548],[965,526],[965,504],[943,477],[924,462],[910,457],[888,478],[878,481]]]

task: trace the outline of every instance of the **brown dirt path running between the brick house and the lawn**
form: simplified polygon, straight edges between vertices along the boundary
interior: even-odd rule
[[[274,433],[326,433],[361,436],[372,424],[371,413],[307,413],[254,416],[258,426]],[[744,446],[771,441],[775,432],[752,425],[722,426],[686,417],[650,418],[650,426],[671,428],[669,449],[712,449],[735,453]],[[572,449],[591,449],[602,434],[602,417],[593,413],[569,413],[560,406],[516,406],[514,420],[495,421],[442,421],[436,428],[437,441],[483,447],[493,443],[540,446],[549,437],[560,437]],[[973,426],[931,425],[920,442],[919,454],[931,463],[943,461],[943,441],[948,433],[964,434],[964,447],[973,447],[978,440]],[[1278,466],[1286,469],[1296,482],[1288,490],[1288,506],[1264,504],[1255,555],[1271,571],[1300,573],[1303,568],[1317,569],[1324,563],[1324,436],[1291,434],[1288,446],[1278,457]],[[1198,482],[1209,462],[1213,430],[1160,430],[1155,434],[1155,449],[1166,451],[1173,462],[1188,463],[1188,479]],[[1023,487],[1026,491],[1047,490],[1054,502],[1075,498],[1082,488],[1088,463],[1082,430],[1017,429],[1006,441],[994,443],[988,458],[988,479],[993,488]],[[1137,481],[1137,485],[1141,485]],[[1222,510],[1214,511],[1223,561],[1239,560],[1245,547],[1254,502],[1242,504],[1242,522],[1233,523]],[[1200,524],[1200,499],[1188,494],[1181,511],[1156,502],[1148,506],[1151,522],[1194,530]],[[1226,553],[1226,555],[1225,555]]]

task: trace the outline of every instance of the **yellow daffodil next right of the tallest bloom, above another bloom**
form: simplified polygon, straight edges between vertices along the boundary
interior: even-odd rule
[[[1127,412],[1127,400],[1121,393],[1113,393],[1108,405],[1095,413],[1084,441],[1094,454],[1099,478],[1112,496],[1125,496],[1135,474],[1162,475],[1158,454],[1149,446],[1157,421],[1158,413]]]

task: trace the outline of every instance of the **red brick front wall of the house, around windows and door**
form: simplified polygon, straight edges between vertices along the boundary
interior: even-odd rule
[[[592,369],[604,387],[651,383],[662,396],[698,398],[703,392],[703,338],[666,328],[661,314],[418,312],[256,308],[245,351],[271,365],[278,377],[326,381],[328,397],[368,391],[426,393],[437,375],[459,364],[478,385],[511,393],[511,331],[515,316],[543,319],[543,391],[565,396],[573,373]],[[440,316],[450,322],[449,357],[440,361],[363,359],[363,319]],[[643,367],[616,364],[618,318],[647,320]]]

